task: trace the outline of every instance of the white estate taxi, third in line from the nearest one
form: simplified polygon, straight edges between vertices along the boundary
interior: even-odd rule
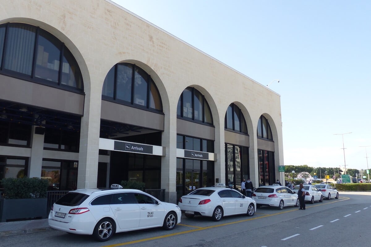
[[[300,205],[298,195],[288,187],[279,184],[260,186],[252,194],[252,197],[258,207],[266,205],[282,210],[286,206],[299,207]]]

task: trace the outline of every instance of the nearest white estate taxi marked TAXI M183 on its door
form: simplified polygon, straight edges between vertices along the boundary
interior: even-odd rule
[[[141,190],[112,186],[119,189],[70,191],[53,204],[49,226],[107,241],[119,232],[160,226],[172,230],[180,223],[181,211],[176,204],[162,202]]]

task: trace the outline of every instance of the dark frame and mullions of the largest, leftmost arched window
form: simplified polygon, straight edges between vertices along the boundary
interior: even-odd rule
[[[6,53],[7,53],[6,46],[7,46],[7,43],[8,43],[8,37],[7,37],[8,35],[7,34],[9,32],[9,25],[30,26],[30,27],[35,27],[36,28],[35,43],[34,43],[34,47],[33,47],[31,75],[23,74],[23,73],[20,73],[20,72],[17,72],[17,71],[13,71],[13,70],[4,68],[4,60],[6,58]],[[82,78],[81,69],[79,67],[79,64],[77,63],[75,57],[72,55],[70,50],[65,46],[65,44],[62,41],[60,41],[53,34],[49,33],[48,31],[46,31],[44,29],[41,29],[38,26],[33,26],[33,25],[30,25],[30,24],[26,24],[26,23],[10,23],[10,22],[5,23],[5,24],[1,24],[0,27],[2,27],[2,26],[5,26],[6,30],[5,30],[5,36],[4,36],[3,54],[2,54],[2,58],[0,60],[0,74],[3,74],[5,76],[9,76],[9,77],[13,77],[13,78],[17,78],[17,79],[21,79],[21,80],[25,80],[25,81],[30,81],[30,82],[37,83],[37,84],[43,84],[43,85],[49,86],[49,87],[55,87],[55,88],[66,90],[66,91],[72,91],[72,92],[75,92],[75,93],[84,94],[83,93],[84,92],[84,84],[83,84],[83,78]],[[42,79],[42,78],[35,77],[37,44],[38,44],[38,41],[39,41],[40,30],[42,30],[44,34],[47,34],[47,35],[51,36],[53,39],[56,39],[60,42],[59,43],[59,45],[60,45],[60,47],[59,47],[60,58],[59,58],[59,70],[58,70],[58,82],[52,82],[52,81],[49,81],[47,79]],[[62,64],[63,64],[63,57],[64,57],[65,54],[71,55],[71,58],[74,62],[73,65],[76,65],[76,74],[74,74],[74,76],[79,77],[79,79],[81,79],[81,89],[78,88],[78,87],[73,87],[73,86],[68,86],[68,85],[62,84]],[[72,65],[72,64],[70,64],[70,65]],[[76,81],[76,83],[77,83],[77,81]]]

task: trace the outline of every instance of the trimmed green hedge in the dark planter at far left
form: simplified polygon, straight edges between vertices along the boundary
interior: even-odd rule
[[[4,188],[5,198],[46,198],[49,181],[40,178],[3,178],[1,186]]]

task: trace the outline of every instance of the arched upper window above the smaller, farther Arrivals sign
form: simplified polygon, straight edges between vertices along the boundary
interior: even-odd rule
[[[187,87],[180,95],[177,116],[195,122],[213,124],[213,117],[205,96],[193,87]]]

